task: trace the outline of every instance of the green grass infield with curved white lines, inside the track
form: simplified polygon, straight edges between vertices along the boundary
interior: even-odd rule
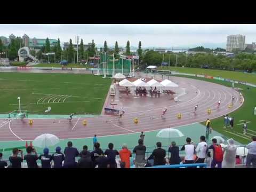
[[[1,114],[21,110],[29,114],[100,114],[111,79],[88,74],[0,73]]]

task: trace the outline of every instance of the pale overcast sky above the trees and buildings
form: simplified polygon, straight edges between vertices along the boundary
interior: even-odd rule
[[[106,40],[109,45],[115,41],[119,46],[138,46],[141,41],[143,46],[171,47],[201,45],[204,43],[225,43],[227,35],[245,35],[245,42],[256,41],[256,25],[1,25],[0,36],[22,36],[27,34],[30,38],[60,38],[60,41],[68,42],[71,38],[74,42],[75,36],[83,38],[84,43],[91,42],[103,45]]]

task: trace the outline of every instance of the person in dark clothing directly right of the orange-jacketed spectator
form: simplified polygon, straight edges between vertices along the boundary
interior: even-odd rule
[[[139,145],[134,147],[133,153],[136,154],[135,156],[135,168],[143,168],[145,166],[145,153],[146,153],[146,146],[143,145],[143,140],[139,139]]]

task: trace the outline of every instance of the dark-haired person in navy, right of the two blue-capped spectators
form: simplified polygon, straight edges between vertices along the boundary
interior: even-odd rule
[[[76,167],[76,157],[79,155],[77,148],[73,147],[73,143],[68,141],[68,147],[64,149],[65,160],[63,167],[74,168]]]

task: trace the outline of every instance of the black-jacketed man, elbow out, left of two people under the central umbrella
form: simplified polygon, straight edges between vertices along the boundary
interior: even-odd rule
[[[154,159],[154,165],[165,165],[165,155],[166,151],[162,149],[162,143],[156,143],[157,149],[154,149],[153,153],[148,157],[148,159]]]

